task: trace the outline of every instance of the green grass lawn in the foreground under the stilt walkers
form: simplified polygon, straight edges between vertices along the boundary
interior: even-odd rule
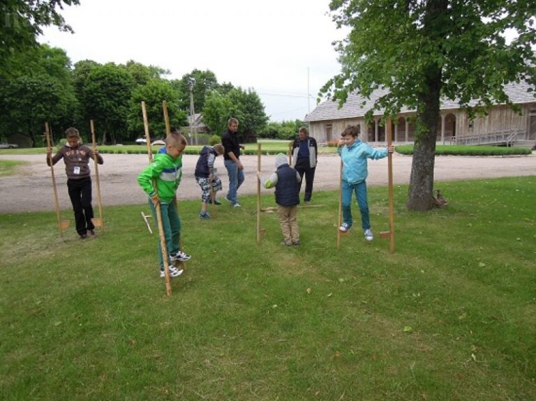
[[[257,245],[255,197],[209,221],[180,202],[193,257],[170,298],[148,206],[105,208],[83,242],[52,211],[0,215],[0,398],[536,400],[536,176],[438,188],[429,213],[394,188],[393,255],[386,188],[373,243],[354,205],[339,249],[336,192],[299,210],[293,247],[276,213]]]

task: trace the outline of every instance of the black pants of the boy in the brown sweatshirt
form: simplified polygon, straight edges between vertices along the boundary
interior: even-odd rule
[[[68,179],[70,203],[75,212],[76,232],[79,235],[87,233],[88,229],[95,229],[91,219],[93,218],[93,206],[91,206],[91,177],[83,179]]]

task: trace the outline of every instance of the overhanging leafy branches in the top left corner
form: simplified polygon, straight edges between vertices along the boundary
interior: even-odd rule
[[[42,27],[55,25],[61,31],[72,32],[58,10],[78,3],[78,0],[1,1],[0,74],[9,75],[20,66],[17,54],[37,45]]]

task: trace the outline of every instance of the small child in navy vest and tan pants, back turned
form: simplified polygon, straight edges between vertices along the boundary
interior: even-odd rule
[[[258,179],[260,172],[257,172]],[[276,156],[276,171],[267,180],[261,180],[265,188],[276,187],[276,204],[279,215],[279,225],[283,232],[283,244],[299,245],[299,227],[297,220],[299,204],[299,173],[288,165],[283,153]]]

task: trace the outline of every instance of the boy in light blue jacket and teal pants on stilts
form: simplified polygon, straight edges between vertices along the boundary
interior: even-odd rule
[[[359,130],[357,126],[348,126],[341,134],[337,152],[343,162],[342,176],[342,206],[343,224],[338,229],[347,232],[352,227],[352,192],[355,191],[361,223],[366,241],[372,241],[371,219],[368,213],[368,199],[366,195],[366,176],[368,176],[366,159],[378,160],[393,153],[393,146],[389,149],[374,149],[372,146],[357,139]]]

